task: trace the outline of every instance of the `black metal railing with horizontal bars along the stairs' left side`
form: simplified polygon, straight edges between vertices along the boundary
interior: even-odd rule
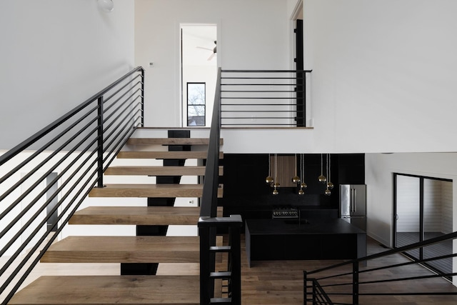
[[[136,127],[137,67],[0,156],[0,294],[7,304]]]

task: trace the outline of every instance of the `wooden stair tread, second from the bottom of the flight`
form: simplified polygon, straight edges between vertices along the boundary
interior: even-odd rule
[[[41,263],[199,263],[199,236],[69,236]]]

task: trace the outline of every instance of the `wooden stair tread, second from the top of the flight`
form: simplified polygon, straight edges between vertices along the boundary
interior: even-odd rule
[[[208,151],[119,151],[119,159],[206,159]],[[224,158],[224,153],[219,153]]]

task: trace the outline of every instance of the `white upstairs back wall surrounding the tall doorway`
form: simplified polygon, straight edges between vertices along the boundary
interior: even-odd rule
[[[283,0],[136,0],[135,61],[146,68],[146,126],[181,126],[179,24],[216,24],[223,69],[288,68]],[[160,111],[158,111],[160,109]]]

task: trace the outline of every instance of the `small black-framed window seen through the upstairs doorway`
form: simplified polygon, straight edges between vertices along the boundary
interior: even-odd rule
[[[206,83],[187,83],[187,126],[206,124]]]

